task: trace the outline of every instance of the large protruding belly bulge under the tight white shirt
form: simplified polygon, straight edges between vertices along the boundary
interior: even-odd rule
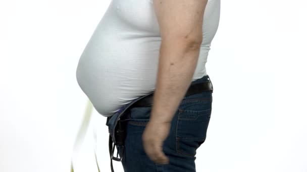
[[[100,114],[110,116],[121,105],[155,90],[159,50],[146,52],[146,46],[156,44],[141,42],[95,39],[82,53],[77,80]]]

